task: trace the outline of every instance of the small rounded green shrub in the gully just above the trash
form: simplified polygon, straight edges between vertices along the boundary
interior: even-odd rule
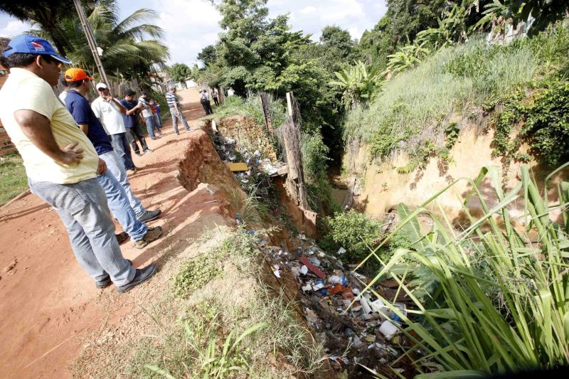
[[[331,239],[347,250],[345,259],[350,262],[366,257],[381,235],[378,222],[355,210],[336,213],[326,220]]]

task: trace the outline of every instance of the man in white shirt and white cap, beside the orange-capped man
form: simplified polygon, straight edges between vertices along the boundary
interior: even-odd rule
[[[137,171],[132,161],[129,140],[127,138],[126,129],[124,129],[124,120],[122,113],[127,110],[117,99],[113,99],[109,89],[105,83],[97,83],[95,86],[99,92],[99,97],[91,103],[91,109],[97,119],[100,120],[105,132],[110,135],[112,146],[115,148],[117,155],[124,163],[124,169]]]

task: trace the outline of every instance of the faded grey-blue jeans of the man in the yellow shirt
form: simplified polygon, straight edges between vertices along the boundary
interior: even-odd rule
[[[132,282],[134,268],[122,257],[107,198],[97,179],[56,184],[28,179],[30,190],[57,211],[71,247],[87,274],[101,282],[110,275],[122,286]]]

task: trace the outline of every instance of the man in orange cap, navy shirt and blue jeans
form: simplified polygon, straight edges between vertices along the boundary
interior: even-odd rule
[[[69,93],[65,97],[65,106],[77,122],[78,126],[90,139],[100,159],[107,164],[107,170],[97,176],[100,186],[107,195],[107,201],[112,214],[119,221],[120,225],[134,241],[134,247],[142,249],[160,237],[162,229],[157,226],[155,228],[147,228],[142,221],[149,221],[160,215],[159,210],[145,210],[142,217],[137,220],[134,209],[129,204],[127,193],[123,186],[117,181],[112,171],[120,171],[121,162],[115,151],[112,149],[110,139],[91,110],[89,102],[85,99],[91,90],[90,78],[85,71],[80,68],[70,68],[65,71],[65,80],[69,85]],[[124,171],[124,168],[123,170]],[[119,174],[120,175],[120,174]],[[124,173],[126,177],[126,173]]]

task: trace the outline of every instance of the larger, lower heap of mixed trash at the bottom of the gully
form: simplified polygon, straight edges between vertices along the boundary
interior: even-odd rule
[[[267,240],[260,240],[257,248],[270,262],[275,277],[294,277],[307,323],[324,344],[336,373],[350,378],[373,377],[362,367],[365,365],[386,376],[393,376],[394,370],[403,376],[411,375],[405,359],[395,364],[399,368],[388,368],[409,346],[408,338],[399,331],[402,320],[371,292],[361,293],[369,279],[352,272],[338,259],[346,250],[326,254],[302,233],[293,243],[298,245],[294,251],[270,245]],[[373,289],[385,299],[396,297],[393,306],[406,316],[405,297],[396,287],[391,279]]]

